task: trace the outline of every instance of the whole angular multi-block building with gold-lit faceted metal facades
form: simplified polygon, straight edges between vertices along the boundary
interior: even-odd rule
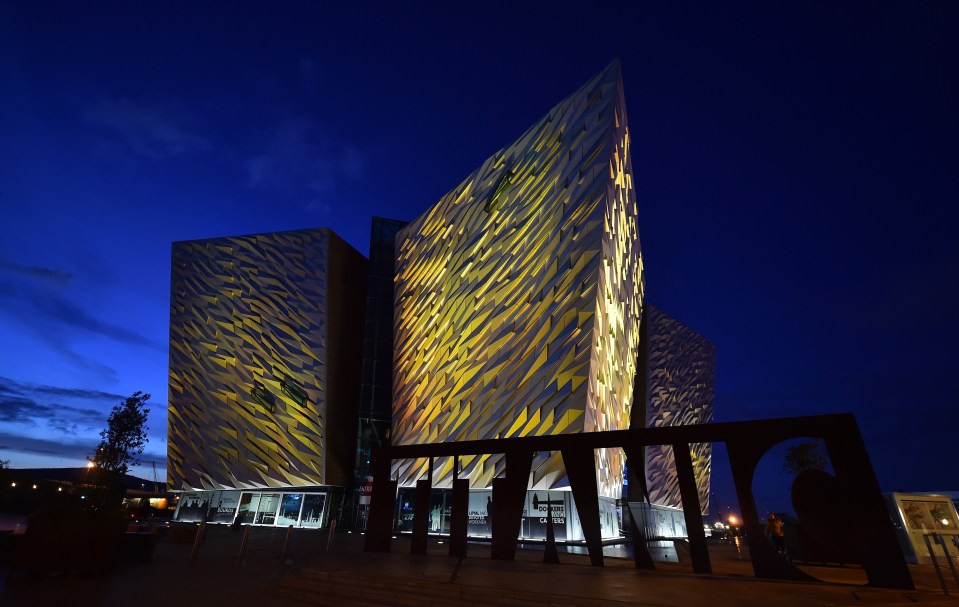
[[[177,518],[304,524],[299,508],[319,524],[331,487],[365,484],[377,446],[711,420],[711,345],[644,309],[629,146],[614,62],[418,218],[374,218],[368,263],[327,229],[175,243]],[[679,499],[669,457],[650,448],[642,470],[664,507]],[[705,508],[709,446],[693,459]],[[460,463],[484,535],[502,456]],[[595,469],[617,536],[621,450],[597,449]],[[431,527],[447,528],[453,476],[449,457],[396,462],[401,530],[402,488],[426,477]],[[538,455],[526,535],[552,512],[557,537],[578,538],[568,488],[559,453]],[[365,506],[351,492],[341,524],[362,526]]]

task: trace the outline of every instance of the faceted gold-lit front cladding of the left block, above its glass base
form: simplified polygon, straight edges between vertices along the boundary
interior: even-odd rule
[[[174,243],[171,488],[327,480],[329,245],[325,228]]]

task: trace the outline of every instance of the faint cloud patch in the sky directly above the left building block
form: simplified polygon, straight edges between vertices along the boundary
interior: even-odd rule
[[[301,118],[269,131],[262,152],[246,163],[247,186],[315,196],[361,177],[365,169],[359,149],[333,141],[312,120]]]

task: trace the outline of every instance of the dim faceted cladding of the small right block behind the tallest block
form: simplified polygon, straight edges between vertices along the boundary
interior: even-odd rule
[[[652,306],[646,306],[646,427],[661,428],[713,421],[716,347]],[[709,508],[712,444],[690,446],[693,473],[703,513]],[[646,448],[646,483],[652,504],[682,508],[672,448]]]

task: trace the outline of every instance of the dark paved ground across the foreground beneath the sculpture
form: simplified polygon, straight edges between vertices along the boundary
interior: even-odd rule
[[[561,563],[549,565],[536,550],[493,561],[488,544],[470,544],[466,558],[451,558],[438,539],[425,556],[410,555],[403,537],[390,554],[373,554],[362,551],[360,534],[328,530],[295,530],[287,544],[286,530],[255,528],[239,559],[242,538],[241,530],[210,526],[193,557],[189,539],[170,533],[149,561],[120,563],[100,576],[25,573],[8,559],[0,568],[0,605],[959,606],[948,568],[950,596],[931,565],[910,567],[914,591],[865,587],[863,572],[850,566],[803,567],[823,582],[771,582],[753,578],[748,555],[731,544],[711,545],[714,573],[697,575],[685,561],[657,563],[650,572],[623,558],[591,567],[582,554],[561,553]]]

